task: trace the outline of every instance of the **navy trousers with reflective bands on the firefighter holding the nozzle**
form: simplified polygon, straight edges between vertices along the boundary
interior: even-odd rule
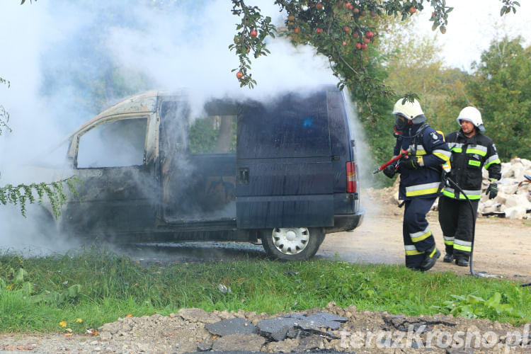
[[[413,198],[405,202],[402,235],[408,268],[418,269],[424,258],[428,256],[426,251],[435,246],[435,239],[426,220],[426,214],[430,211],[435,199],[435,197]]]

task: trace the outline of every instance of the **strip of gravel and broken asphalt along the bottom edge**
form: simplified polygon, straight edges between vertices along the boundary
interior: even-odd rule
[[[452,315],[404,316],[388,312],[358,311],[351,305],[297,312],[310,316],[327,312],[346,318],[338,329],[311,331],[287,329],[281,341],[256,333],[219,336],[211,324],[249,323],[293,314],[181,309],[177,314],[129,317],[104,324],[86,334],[7,333],[0,336],[0,348],[33,353],[193,353],[207,350],[251,350],[263,352],[341,351],[350,353],[530,353],[530,324],[513,327],[486,319],[465,319]],[[465,345],[468,343],[468,347]]]

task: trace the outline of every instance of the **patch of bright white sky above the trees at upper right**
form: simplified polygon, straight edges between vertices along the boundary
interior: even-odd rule
[[[428,8],[418,13],[416,28],[423,35],[437,34],[440,56],[447,67],[469,71],[470,64],[479,62],[481,52],[489,49],[491,40],[501,40],[504,35],[509,38],[521,35],[525,45],[531,45],[531,4],[529,0],[519,2],[521,6],[517,6],[516,13],[500,17],[502,3],[499,0],[446,0],[446,5],[454,10],[448,14],[444,35],[431,30]]]

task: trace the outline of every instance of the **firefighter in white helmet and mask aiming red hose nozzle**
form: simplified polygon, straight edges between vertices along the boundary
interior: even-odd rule
[[[400,173],[399,199],[404,200],[404,249],[406,267],[425,271],[433,267],[440,251],[430,231],[426,214],[440,193],[442,164],[450,159],[450,150],[442,138],[426,122],[420,103],[403,98],[396,101],[394,156],[402,149],[409,150],[406,158],[384,169],[392,178]]]

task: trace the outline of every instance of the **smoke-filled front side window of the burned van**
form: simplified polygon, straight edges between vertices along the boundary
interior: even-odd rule
[[[104,122],[79,138],[77,168],[144,164],[147,118]]]

